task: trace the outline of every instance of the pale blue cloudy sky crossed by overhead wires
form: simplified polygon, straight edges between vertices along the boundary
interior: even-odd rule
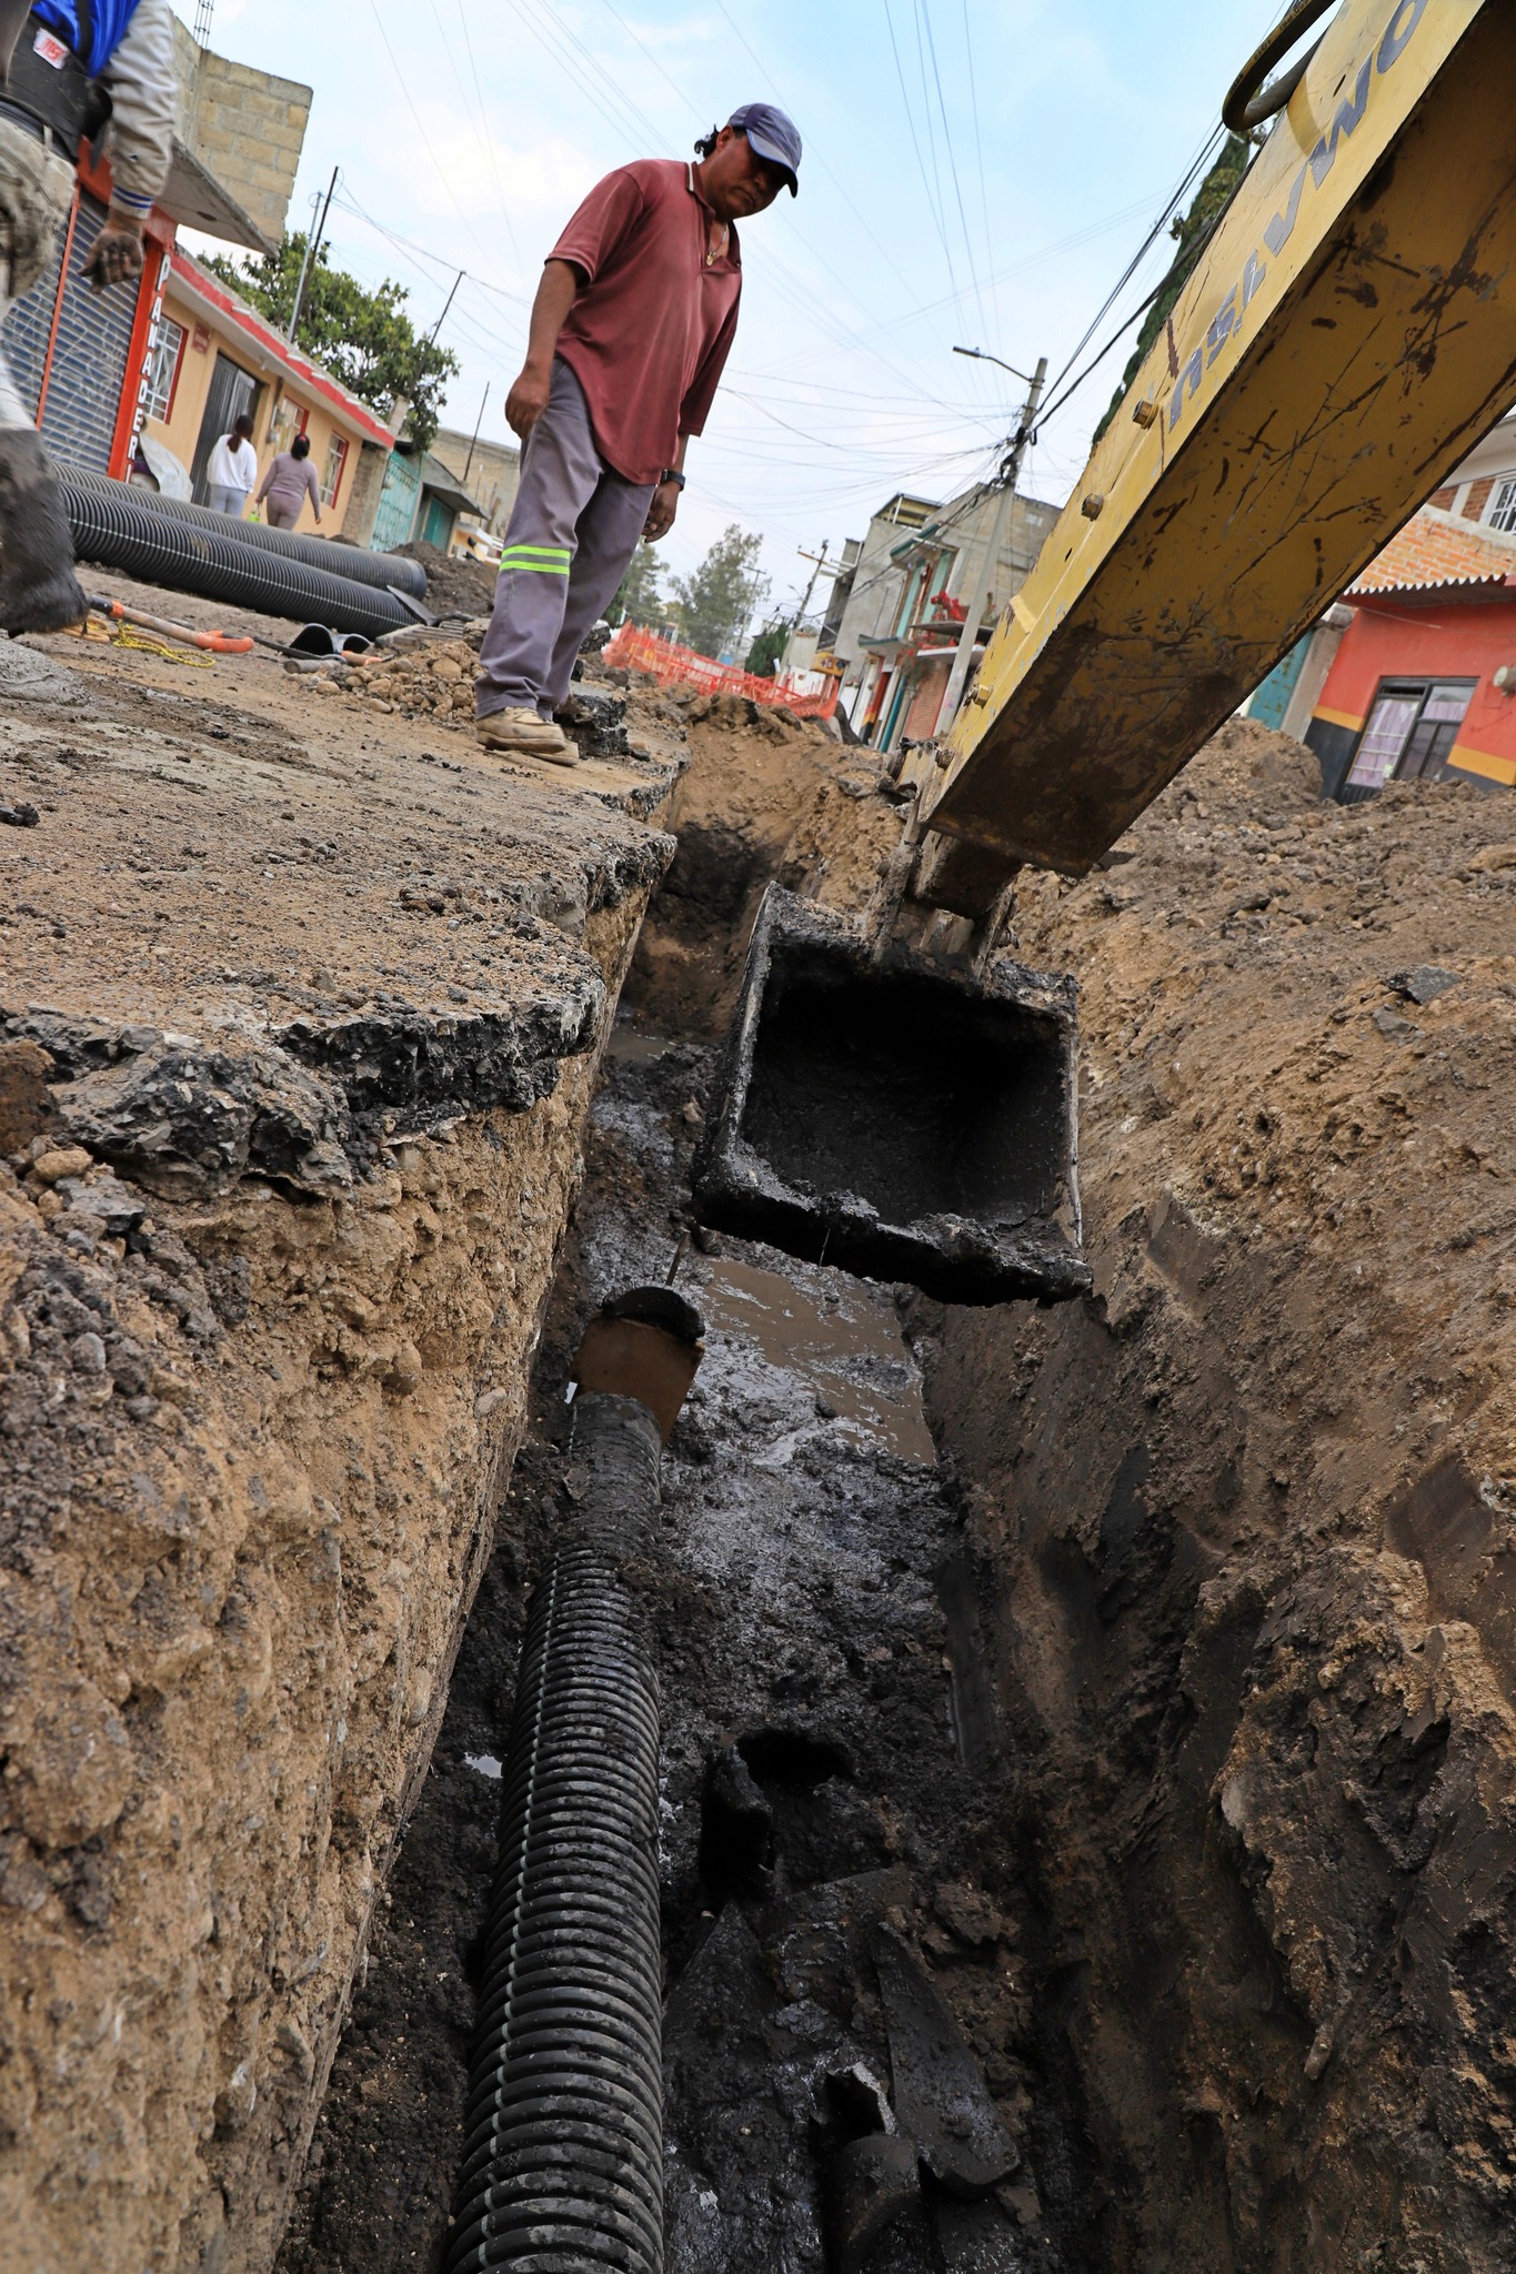
[[[193,23],[193,0],[175,0]],[[541,262],[591,184],[689,157],[739,102],[782,102],[800,198],[743,225],[743,309],[661,543],[673,573],[739,523],[773,609],[896,489],[989,473],[1050,362],[1021,487],[1061,503],[1130,352],[1157,239],[1080,339],[1216,132],[1280,0],[216,0],[211,45],[314,89],[291,227],[339,168],[336,266],[395,277],[461,371],[445,423],[507,441]],[[1114,334],[1118,334],[1114,339]],[[1061,387],[1057,384],[1064,373]],[[825,596],[825,580],[816,598]]]

